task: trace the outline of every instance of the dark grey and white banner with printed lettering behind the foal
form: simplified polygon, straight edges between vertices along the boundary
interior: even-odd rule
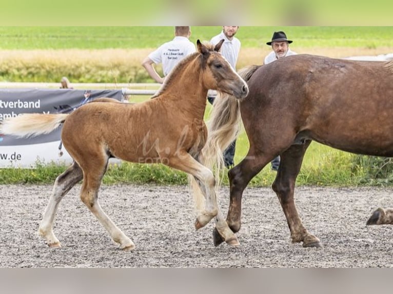
[[[0,89],[0,123],[22,113],[69,113],[96,98],[122,101],[122,90]],[[0,134],[0,168],[34,167],[37,162],[68,164],[63,148],[59,156],[61,127],[41,136],[17,138]]]

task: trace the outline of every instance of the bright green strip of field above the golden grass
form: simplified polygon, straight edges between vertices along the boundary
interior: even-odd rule
[[[221,27],[191,27],[190,40],[209,40]],[[393,27],[240,27],[243,48],[266,46],[284,30],[302,47],[393,47]],[[0,27],[0,50],[155,48],[173,36],[173,27]]]

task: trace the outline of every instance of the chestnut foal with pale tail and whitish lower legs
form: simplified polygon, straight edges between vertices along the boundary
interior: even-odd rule
[[[74,162],[56,178],[39,227],[49,246],[60,246],[53,233],[58,204],[83,180],[80,194],[83,203],[108,230],[113,241],[123,249],[134,248],[131,239],[104,213],[97,200],[110,157],[163,163],[195,177],[206,197],[205,207],[199,207],[197,212],[195,227],[206,225],[214,217],[222,238],[229,244],[238,244],[219,211],[214,176],[199,162],[207,136],[203,119],[208,89],[239,98],[248,93],[246,82],[219,53],[223,41],[211,46],[198,40],[198,52],[180,61],[154,99],[146,102],[119,103],[103,98],[71,114],[24,114],[3,122],[2,133],[17,136],[48,133],[63,124],[62,141]]]

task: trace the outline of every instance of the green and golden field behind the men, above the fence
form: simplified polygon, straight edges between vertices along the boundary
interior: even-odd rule
[[[221,27],[191,30],[195,43]],[[277,30],[286,31],[298,53],[347,57],[393,48],[393,27],[241,27],[238,69],[262,64]],[[82,83],[152,82],[141,61],[173,33],[173,27],[0,27],[0,81],[58,82],[65,75]]]

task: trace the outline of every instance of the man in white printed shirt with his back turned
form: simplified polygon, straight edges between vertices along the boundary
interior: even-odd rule
[[[165,76],[188,54],[195,52],[195,45],[189,37],[191,29],[187,27],[174,27],[175,37],[164,43],[158,49],[151,52],[143,61],[142,66],[148,74],[158,83],[163,83]],[[164,77],[161,77],[153,67],[153,64],[162,64]]]

